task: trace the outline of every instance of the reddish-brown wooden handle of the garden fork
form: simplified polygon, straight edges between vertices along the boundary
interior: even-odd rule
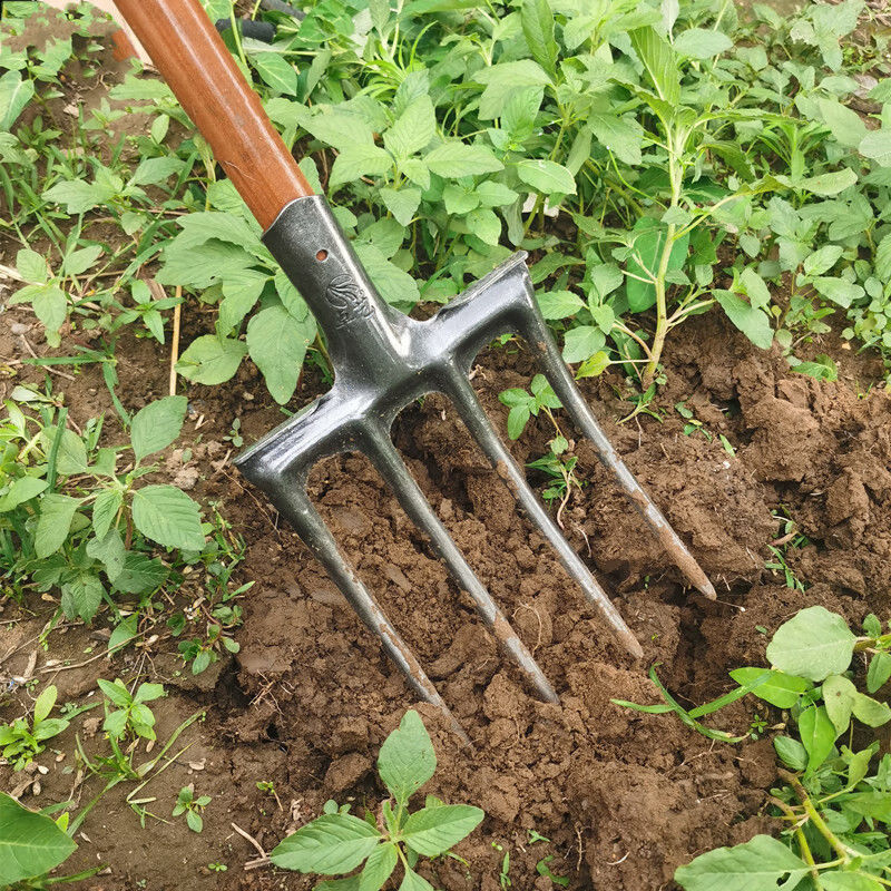
[[[198,0],[116,0],[263,228],[310,184]]]

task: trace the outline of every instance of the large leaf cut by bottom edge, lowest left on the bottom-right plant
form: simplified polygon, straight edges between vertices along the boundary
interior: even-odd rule
[[[781,841],[755,835],[735,848],[717,848],[675,872],[685,891],[766,891],[794,888],[807,873],[807,864]]]

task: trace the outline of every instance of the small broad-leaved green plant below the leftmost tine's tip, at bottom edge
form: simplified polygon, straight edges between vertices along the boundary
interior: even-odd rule
[[[368,891],[383,888],[401,863],[403,889],[431,889],[414,871],[418,859],[450,853],[484,816],[479,807],[443,804],[432,795],[423,807],[409,812],[409,800],[433,776],[435,767],[437,756],[423,722],[409,711],[378,756],[378,773],[391,795],[381,806],[381,824],[374,814],[360,820],[349,813],[349,805],[340,810],[334,805],[284,839],[270,854],[273,863],[298,872],[341,875],[364,862],[358,881]],[[319,888],[346,887],[349,881],[323,882]]]

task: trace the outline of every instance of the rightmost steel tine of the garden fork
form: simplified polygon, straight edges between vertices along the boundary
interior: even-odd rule
[[[560,402],[564,403],[564,408],[576,427],[591,441],[597,457],[613,473],[616,482],[618,482],[630,502],[654,531],[675,566],[709,600],[716,599],[717,594],[714,585],[708,580],[699,564],[696,562],[696,558],[687,550],[687,546],[681,540],[668,520],[665,519],[663,512],[635,479],[631,471],[628,470],[627,464],[621,460],[600,424],[597,423],[594,412],[581,395],[552,337],[544,336],[544,334],[536,336],[535,334],[535,332],[527,332],[527,340],[530,344],[533,344],[548,383],[550,383]]]

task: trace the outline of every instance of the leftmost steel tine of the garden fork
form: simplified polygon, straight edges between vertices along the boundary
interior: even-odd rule
[[[306,493],[292,490],[275,500],[276,507],[287,517],[304,544],[325,567],[332,581],[350,601],[359,618],[383,644],[390,658],[405,676],[409,686],[421,699],[438,706],[458,736],[470,744],[470,737],[452,715],[408,644],[400,637],[399,631],[390,624],[390,619],[344,559],[331,530]]]

